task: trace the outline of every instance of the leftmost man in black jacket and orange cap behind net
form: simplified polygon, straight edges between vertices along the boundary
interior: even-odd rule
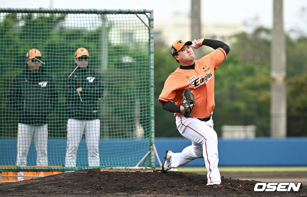
[[[58,93],[52,76],[41,67],[41,52],[31,49],[26,54],[26,69],[17,74],[8,100],[18,111],[17,166],[27,165],[27,155],[34,137],[37,166],[47,166],[48,116],[55,108]],[[22,176],[22,172],[18,175]],[[23,177],[18,177],[23,180]]]

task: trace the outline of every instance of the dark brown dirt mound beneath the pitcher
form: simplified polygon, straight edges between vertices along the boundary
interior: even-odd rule
[[[301,196],[299,191],[254,191],[261,181],[222,176],[222,184],[207,186],[207,176],[161,170],[85,169],[0,184],[0,196]],[[296,183],[297,184],[297,183]]]

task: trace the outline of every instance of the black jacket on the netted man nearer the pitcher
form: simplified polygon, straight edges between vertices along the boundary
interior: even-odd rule
[[[77,120],[99,119],[99,98],[103,96],[103,78],[100,73],[91,69],[78,67],[68,78],[73,70],[63,76],[63,92],[66,98],[68,118]],[[80,96],[76,88],[82,87]]]

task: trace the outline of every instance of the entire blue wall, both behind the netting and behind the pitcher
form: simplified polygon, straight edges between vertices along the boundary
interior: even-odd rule
[[[101,139],[99,152],[101,165],[134,166],[147,153],[149,139]],[[166,150],[181,152],[192,143],[185,138],[155,138],[160,161],[164,162]],[[87,166],[87,149],[82,139],[78,150],[77,164]],[[307,166],[307,137],[218,139],[219,166]],[[66,138],[48,139],[49,165],[64,165]],[[120,155],[115,155],[115,153]],[[16,138],[0,138],[0,165],[15,165],[17,154]],[[32,156],[30,156],[32,155]],[[131,157],[134,155],[134,157]],[[29,150],[28,165],[35,165],[34,143]],[[80,158],[86,158],[81,161]],[[112,159],[113,158],[113,159]],[[114,159],[118,158],[118,159]],[[146,160],[146,163],[149,160]],[[155,165],[159,166],[157,158]],[[185,166],[204,166],[198,158]]]

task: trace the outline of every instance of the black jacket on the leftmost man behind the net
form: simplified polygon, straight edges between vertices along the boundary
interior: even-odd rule
[[[18,110],[19,123],[44,125],[56,106],[58,93],[52,76],[43,67],[38,72],[26,68],[14,76],[8,100]]]

